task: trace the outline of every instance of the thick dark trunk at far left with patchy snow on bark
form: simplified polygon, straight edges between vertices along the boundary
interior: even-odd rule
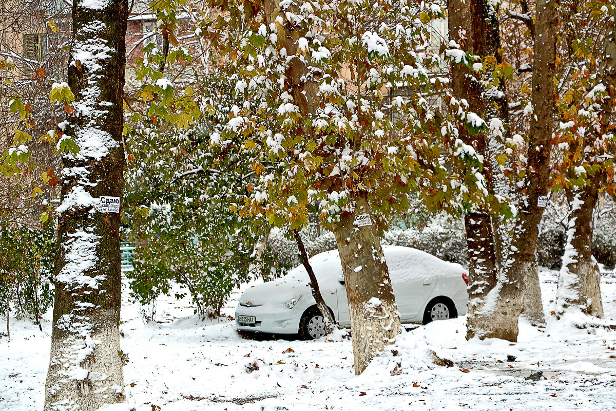
[[[76,0],[72,17],[68,82],[75,112],[60,126],[59,144],[70,139],[79,152],[63,154],[46,411],[124,401],[120,213],[104,212],[100,197],[122,198],[128,2]]]

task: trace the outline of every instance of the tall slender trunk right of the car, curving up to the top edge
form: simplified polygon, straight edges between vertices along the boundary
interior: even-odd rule
[[[537,272],[535,245],[543,207],[540,196],[548,195],[550,149],[554,127],[554,71],[556,70],[556,2],[539,0],[535,15],[532,107],[527,169],[514,229],[511,250],[499,279],[500,296],[491,317],[490,338],[517,341],[518,320],[524,313],[535,324],[543,324],[543,305]]]

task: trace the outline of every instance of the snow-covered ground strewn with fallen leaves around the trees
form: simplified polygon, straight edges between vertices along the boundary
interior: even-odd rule
[[[549,316],[557,272],[540,277]],[[616,274],[603,275],[601,287],[607,322],[616,324]],[[616,331],[588,333],[553,317],[545,330],[522,321],[516,344],[466,341],[464,318],[418,327],[355,376],[345,332],[319,341],[244,340],[233,322],[198,320],[186,300],[161,298],[159,322],[149,324],[142,307],[125,301],[127,404],[105,411],[616,409]],[[1,338],[0,410],[43,409],[49,319],[43,333],[13,320],[11,340]],[[432,351],[453,367],[434,365]],[[537,381],[526,379],[537,372]]]

